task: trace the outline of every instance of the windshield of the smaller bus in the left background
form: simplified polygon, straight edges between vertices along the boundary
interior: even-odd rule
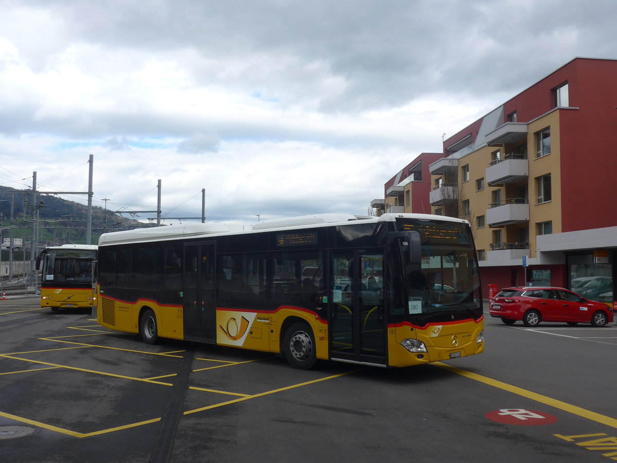
[[[88,249],[46,249],[43,261],[43,285],[92,283],[96,251]]]

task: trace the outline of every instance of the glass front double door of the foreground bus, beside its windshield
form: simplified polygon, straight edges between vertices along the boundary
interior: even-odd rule
[[[383,252],[365,249],[330,254],[330,357],[386,364],[383,309]]]

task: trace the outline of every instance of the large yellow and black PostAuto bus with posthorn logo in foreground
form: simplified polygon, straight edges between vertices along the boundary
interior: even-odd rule
[[[249,231],[188,223],[101,235],[99,324],[158,338],[406,367],[478,354],[484,317],[465,220],[318,214]]]

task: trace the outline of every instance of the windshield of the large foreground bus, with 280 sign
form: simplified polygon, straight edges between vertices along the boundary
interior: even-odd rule
[[[482,315],[478,264],[469,225],[426,219],[397,221],[401,230],[418,232],[421,243],[420,265],[404,266],[407,318],[420,325],[478,319]]]

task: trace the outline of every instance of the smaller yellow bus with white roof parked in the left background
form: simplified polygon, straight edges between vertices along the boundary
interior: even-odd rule
[[[43,249],[36,259],[41,270],[41,307],[52,311],[96,305],[94,244],[63,244]]]

